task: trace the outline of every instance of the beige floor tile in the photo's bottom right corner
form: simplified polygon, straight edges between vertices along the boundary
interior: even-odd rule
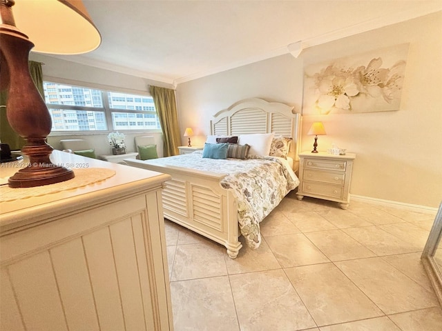
[[[389,315],[403,331],[441,331],[442,310],[440,307]]]

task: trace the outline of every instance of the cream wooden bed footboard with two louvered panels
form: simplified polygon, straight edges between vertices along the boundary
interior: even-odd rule
[[[233,193],[220,185],[226,174],[135,159],[124,161],[137,168],[170,174],[172,179],[162,190],[164,217],[224,245],[231,259],[237,257],[242,247],[238,241],[238,205]]]

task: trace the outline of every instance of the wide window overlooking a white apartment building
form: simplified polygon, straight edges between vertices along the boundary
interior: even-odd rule
[[[160,130],[151,97],[44,81],[52,132]]]

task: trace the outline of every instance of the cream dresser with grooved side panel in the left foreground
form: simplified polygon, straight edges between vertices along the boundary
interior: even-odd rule
[[[51,160],[113,175],[3,194],[0,330],[173,330],[161,194],[170,176],[57,150]],[[3,182],[17,168],[1,163]]]

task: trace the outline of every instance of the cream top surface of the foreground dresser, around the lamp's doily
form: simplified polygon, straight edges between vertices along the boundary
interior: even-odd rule
[[[83,207],[84,205],[93,205],[93,203],[98,203],[97,201],[118,199],[119,197],[124,197],[134,192],[141,192],[148,188],[158,188],[164,181],[170,179],[168,174],[98,159],[90,159],[59,150],[54,150],[50,159],[55,165],[62,165],[66,168],[75,168],[75,165],[82,165],[81,168],[88,168],[92,171],[94,168],[106,168],[115,171],[115,174],[103,181],[71,190],[60,190],[59,192],[44,195],[37,193],[35,196],[27,197],[26,199],[0,202],[0,225],[4,225],[5,222],[10,223],[10,221],[15,219],[18,221],[23,217],[29,217],[29,215],[37,217],[37,215],[45,214],[54,208],[73,209]],[[8,177],[23,168],[23,164],[26,164],[28,159],[25,157],[19,162],[21,164],[14,164],[14,162],[0,163],[2,185],[7,185]],[[73,165],[73,167],[69,165]],[[43,189],[44,186],[39,188]],[[26,189],[15,188],[13,190]]]

